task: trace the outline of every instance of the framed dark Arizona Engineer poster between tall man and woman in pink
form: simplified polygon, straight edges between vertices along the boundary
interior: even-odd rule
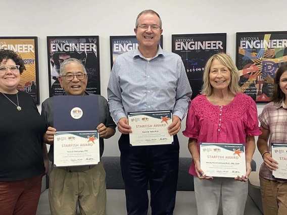
[[[177,53],[184,64],[192,87],[192,99],[200,94],[203,72],[208,59],[218,52],[226,52],[226,33],[173,34],[172,52]]]

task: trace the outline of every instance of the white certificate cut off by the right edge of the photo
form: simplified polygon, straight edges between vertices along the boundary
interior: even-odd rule
[[[287,144],[271,143],[272,157],[278,162],[278,169],[272,170],[274,178],[287,179]]]

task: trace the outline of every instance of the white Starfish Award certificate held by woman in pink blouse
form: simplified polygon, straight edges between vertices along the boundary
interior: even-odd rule
[[[245,176],[245,144],[201,143],[200,168],[206,176],[221,178]]]

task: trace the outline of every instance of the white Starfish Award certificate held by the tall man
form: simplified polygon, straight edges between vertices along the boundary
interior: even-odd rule
[[[173,136],[167,129],[172,123],[171,111],[129,113],[128,123],[132,130],[129,134],[132,146],[173,143]]]

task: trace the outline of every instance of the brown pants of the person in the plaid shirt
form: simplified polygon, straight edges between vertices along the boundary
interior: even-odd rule
[[[264,215],[287,214],[287,183],[260,177],[260,189]]]

